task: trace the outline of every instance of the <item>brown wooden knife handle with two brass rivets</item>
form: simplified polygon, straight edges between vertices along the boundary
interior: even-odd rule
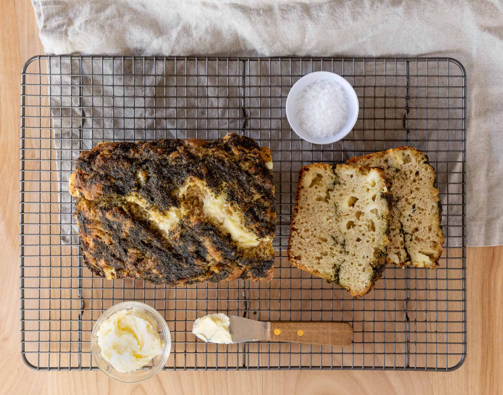
[[[349,323],[331,321],[271,322],[271,342],[306,343],[327,346],[348,346],[353,342]]]

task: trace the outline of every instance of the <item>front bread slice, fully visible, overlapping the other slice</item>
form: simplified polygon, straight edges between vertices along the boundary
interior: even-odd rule
[[[353,296],[365,295],[386,264],[388,215],[381,169],[305,166],[299,174],[288,258]]]

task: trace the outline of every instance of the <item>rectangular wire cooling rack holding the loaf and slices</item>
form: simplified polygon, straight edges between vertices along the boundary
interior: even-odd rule
[[[327,70],[355,87],[360,115],[344,140],[300,140],[285,116],[290,87]],[[274,279],[175,288],[104,280],[82,268],[68,175],[103,140],[214,139],[229,131],[271,148],[278,226]],[[466,355],[466,75],[450,58],[36,56],[22,73],[21,352],[38,370],[97,369],[91,330],[101,313],[138,300],[172,331],[165,369],[453,370]],[[368,295],[292,268],[286,258],[298,171],[312,162],[411,145],[437,171],[446,235],[437,270],[388,265]],[[196,341],[215,311],[258,320],[348,321],[347,347]]]

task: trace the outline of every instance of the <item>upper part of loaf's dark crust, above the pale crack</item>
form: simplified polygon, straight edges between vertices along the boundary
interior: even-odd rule
[[[75,161],[75,188],[88,200],[114,200],[136,192],[158,210],[180,207],[174,192],[189,177],[204,180],[216,194],[244,213],[259,238],[274,237],[274,180],[265,165],[270,154],[251,138],[229,133],[204,141],[160,139],[105,142],[82,151]],[[142,184],[137,176],[144,172]]]

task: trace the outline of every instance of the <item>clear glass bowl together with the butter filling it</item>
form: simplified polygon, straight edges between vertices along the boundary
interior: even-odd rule
[[[113,305],[96,322],[91,352],[98,367],[117,381],[138,383],[155,376],[171,352],[166,321],[148,304]]]

